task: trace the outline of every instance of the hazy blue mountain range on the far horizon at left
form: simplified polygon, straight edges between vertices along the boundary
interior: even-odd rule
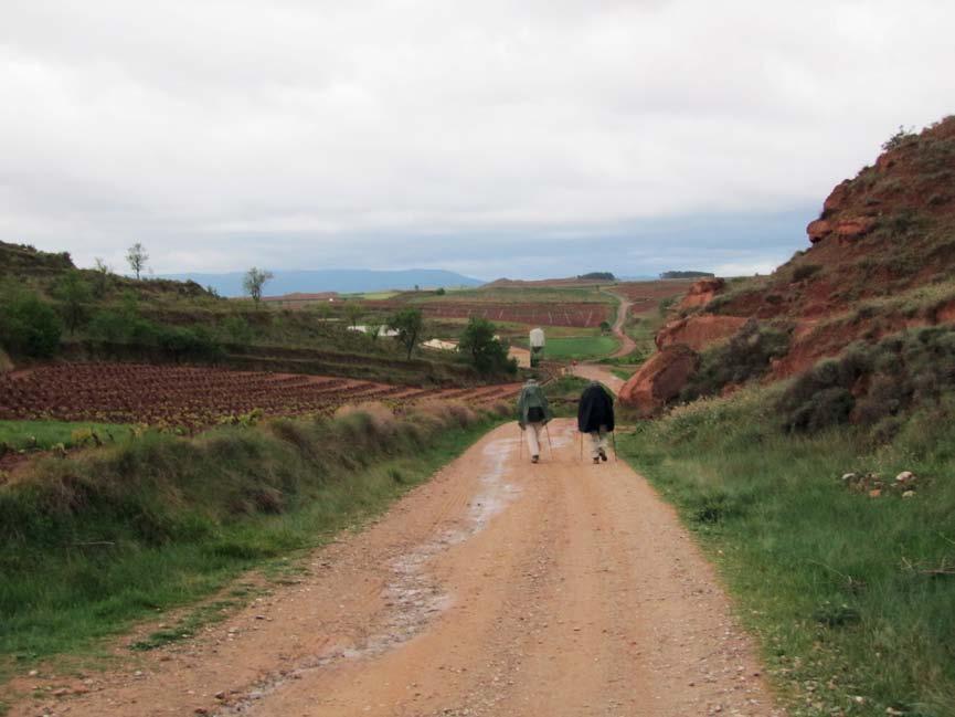
[[[283,294],[315,294],[338,292],[385,292],[389,289],[480,286],[478,278],[439,268],[408,268],[403,271],[373,271],[368,268],[328,268],[316,271],[276,271],[275,277],[265,285],[266,296]],[[222,296],[242,296],[242,280],[245,272],[227,274],[165,274],[160,278],[180,282],[193,281],[211,286]]]

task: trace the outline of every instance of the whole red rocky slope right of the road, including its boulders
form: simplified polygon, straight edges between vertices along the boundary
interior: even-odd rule
[[[784,331],[788,345],[751,378],[781,379],[857,340],[955,323],[955,116],[919,135],[900,131],[883,149],[832,190],[807,226],[806,250],[767,277],[698,282],[657,346],[682,346],[705,363],[714,346],[756,321]],[[673,376],[688,365],[686,352],[665,351],[624,387],[623,401],[643,413],[659,409],[682,393],[689,376],[682,384]]]

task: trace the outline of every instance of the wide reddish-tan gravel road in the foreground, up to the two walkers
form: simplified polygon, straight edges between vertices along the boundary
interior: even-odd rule
[[[551,435],[531,465],[492,431],[297,584],[11,715],[782,714],[673,512]]]

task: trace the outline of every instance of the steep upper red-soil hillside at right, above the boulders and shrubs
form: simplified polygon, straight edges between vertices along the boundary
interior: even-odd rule
[[[876,165],[837,186],[807,228],[810,246],[765,283],[709,310],[817,319],[867,298],[952,277],[955,268],[955,117],[896,136]]]

